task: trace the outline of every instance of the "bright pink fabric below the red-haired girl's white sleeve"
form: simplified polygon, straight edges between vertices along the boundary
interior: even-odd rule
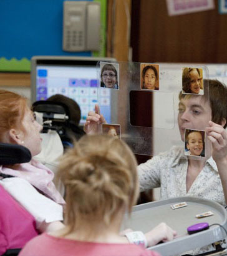
[[[38,235],[36,221],[0,185],[0,255],[19,249]]]

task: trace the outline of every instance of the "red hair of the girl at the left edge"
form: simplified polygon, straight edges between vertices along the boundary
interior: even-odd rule
[[[0,90],[0,141],[10,129],[21,129],[26,112],[27,99],[11,91]]]

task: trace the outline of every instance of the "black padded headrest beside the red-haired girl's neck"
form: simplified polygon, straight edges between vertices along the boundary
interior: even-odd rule
[[[22,164],[29,162],[31,158],[31,152],[27,147],[0,143],[0,165]]]

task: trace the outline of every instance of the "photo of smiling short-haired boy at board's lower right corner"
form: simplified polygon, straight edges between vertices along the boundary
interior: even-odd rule
[[[205,130],[185,129],[185,155],[205,157]]]

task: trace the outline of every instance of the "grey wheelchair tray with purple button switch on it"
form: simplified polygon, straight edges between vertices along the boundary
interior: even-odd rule
[[[186,207],[171,209],[171,205],[186,202]],[[197,219],[195,215],[203,212],[213,212],[214,215]],[[122,229],[141,230],[148,232],[155,226],[165,222],[175,229],[178,237],[170,242],[158,244],[149,249],[156,250],[162,255],[174,255],[188,250],[212,244],[226,237],[226,232],[219,225],[213,225],[208,230],[188,235],[187,227],[200,222],[209,225],[220,224],[227,229],[227,214],[225,208],[208,199],[196,197],[176,197],[173,199],[159,200],[147,204],[136,205],[130,217],[125,215]]]

